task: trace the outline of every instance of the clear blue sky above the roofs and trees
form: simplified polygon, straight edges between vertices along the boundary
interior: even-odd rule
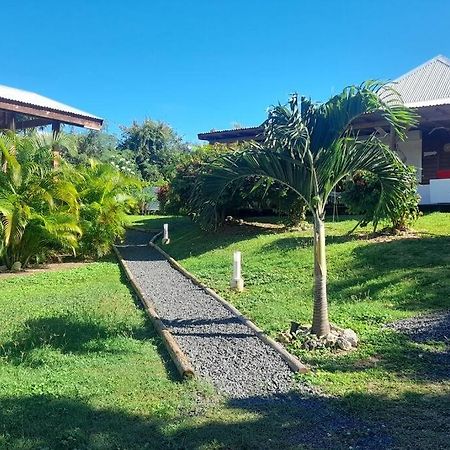
[[[185,139],[450,56],[449,0],[5,0],[0,84]]]

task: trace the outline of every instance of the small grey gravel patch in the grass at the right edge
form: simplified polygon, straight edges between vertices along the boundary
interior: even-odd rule
[[[398,320],[386,328],[399,331],[415,342],[449,341],[450,311]]]

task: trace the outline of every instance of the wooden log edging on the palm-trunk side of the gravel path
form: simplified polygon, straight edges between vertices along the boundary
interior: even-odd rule
[[[168,253],[166,253],[161,247],[159,247],[157,244],[155,244],[156,239],[158,239],[161,236],[161,233],[156,234],[152,237],[152,239],[149,242],[149,246],[157,250],[161,255],[164,256],[164,258],[167,259],[169,264],[176,270],[178,270],[181,274],[183,274],[186,278],[189,278],[195,285],[202,288],[207,294],[209,294],[211,297],[214,297],[216,300],[218,300],[225,308],[228,309],[231,313],[237,316],[237,318],[246,326],[251,328],[255,334],[258,336],[259,339],[261,339],[263,342],[265,342],[267,345],[272,347],[277,353],[280,354],[280,356],[283,358],[283,360],[288,364],[288,366],[294,371],[299,373],[309,373],[310,369],[309,367],[305,366],[298,358],[296,358],[294,355],[291,355],[280,343],[276,342],[271,337],[267,336],[261,328],[259,328],[257,325],[255,325],[250,319],[245,317],[235,306],[233,306],[230,302],[225,300],[223,297],[221,297],[217,292],[213,291],[210,287],[203,284],[200,280],[198,280],[195,275],[192,275],[190,272],[188,272],[178,261],[173,259]]]

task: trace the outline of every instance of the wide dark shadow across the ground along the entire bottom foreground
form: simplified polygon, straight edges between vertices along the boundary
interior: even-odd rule
[[[444,449],[450,420],[445,392],[230,400],[225,415],[208,421],[189,411],[182,419],[138,415],[68,397],[4,397],[0,406],[0,445],[14,449]]]

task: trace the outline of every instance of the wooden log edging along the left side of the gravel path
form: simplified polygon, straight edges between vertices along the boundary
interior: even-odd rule
[[[144,294],[139,289],[133,274],[131,273],[130,269],[128,269],[127,265],[125,264],[125,261],[123,260],[119,250],[115,245],[113,246],[113,250],[131,286],[133,287],[134,291],[139,297],[139,300],[142,302],[145,312],[150,317],[157,333],[161,336],[162,341],[164,342],[164,345],[166,346],[169,355],[172,358],[172,361],[174,362],[178,372],[180,373],[183,379],[195,377],[194,368],[192,367],[189,358],[186,356],[183,350],[181,350],[180,346],[178,345],[178,342],[173,337],[170,330],[164,325],[164,323],[160,319],[158,313],[156,312],[154,306],[151,304],[149,299],[144,297]]]

